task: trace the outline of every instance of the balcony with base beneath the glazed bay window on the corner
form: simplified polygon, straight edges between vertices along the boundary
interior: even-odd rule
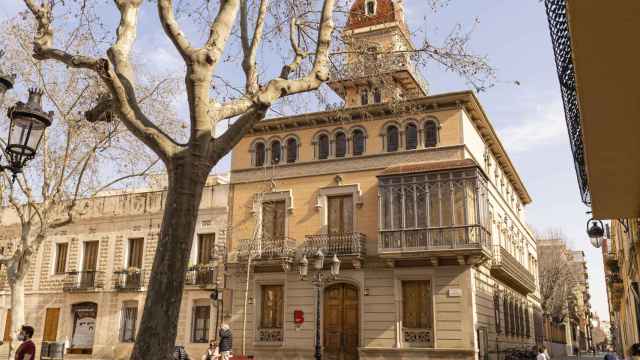
[[[491,257],[489,232],[480,225],[382,230],[378,254],[384,258],[427,258],[434,264],[446,259],[477,263]]]

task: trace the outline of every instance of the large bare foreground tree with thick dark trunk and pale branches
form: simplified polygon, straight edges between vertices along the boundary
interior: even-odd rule
[[[138,34],[142,0],[113,0],[120,21],[112,35],[114,40],[106,45],[106,56],[69,52],[64,48],[64,41],[54,41],[56,14],[79,13],[80,22],[102,25],[100,21],[86,21],[93,19],[93,15],[87,15],[92,13],[91,7],[101,5],[86,0],[24,2],[37,23],[34,58],[55,60],[71,69],[83,69],[98,76],[110,97],[89,113],[90,119],[101,118],[101,109],[113,110],[119,121],[166,167],[169,179],[167,205],[142,322],[131,356],[133,359],[168,359],[176,337],[183,274],[207,175],[243,135],[265,117],[272,105],[294,94],[315,91],[329,80],[332,43],[335,52],[341,51],[334,36],[334,15],[344,20],[344,14],[348,14],[350,8],[345,3],[350,1],[220,0],[177,1],[174,4],[172,0],[156,0],[159,23],[186,67],[184,90],[188,102],[189,134],[183,143],[169,136],[157,119],[141,108],[136,93],[137,71],[131,58],[135,53],[132,49]],[[439,2],[432,0],[428,5]],[[56,13],[56,7],[66,10]],[[111,10],[101,9],[100,13]],[[190,26],[179,23],[184,14],[188,14]],[[206,26],[207,30],[202,31],[199,24]],[[56,31],[69,36],[70,31],[65,31],[68,26]],[[203,44],[195,45],[187,32],[194,33],[192,38],[203,37]],[[277,66],[279,69],[274,71],[270,80],[264,81],[264,78],[269,78],[265,74],[268,65],[272,64],[263,62],[262,68],[259,67],[259,51],[264,46],[285,48],[277,41],[284,39],[288,49],[281,53],[290,58]],[[236,48],[231,46],[235,41],[239,44]],[[423,51],[416,53],[431,57],[468,79],[476,79],[487,70],[483,67],[486,62],[482,57],[465,56],[464,44],[465,41],[453,41],[444,48],[425,46]],[[442,56],[438,54],[442,49],[453,52],[450,56]],[[244,73],[243,84],[238,84],[232,73],[221,70],[225,61],[240,64]],[[234,91],[232,95],[212,96],[221,83],[224,84],[222,87]],[[216,125],[224,120],[230,125],[224,133],[216,136]]]

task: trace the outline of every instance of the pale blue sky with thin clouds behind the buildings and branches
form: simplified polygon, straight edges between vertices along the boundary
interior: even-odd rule
[[[1,1],[0,20],[23,9],[21,0]],[[585,234],[588,209],[580,202],[544,3],[451,0],[433,13],[425,2],[405,0],[407,21],[411,28],[426,26],[428,35],[436,40],[457,23],[471,26],[479,19],[472,46],[489,57],[498,76],[496,86],[479,98],[533,198],[526,210],[527,222],[538,231],[561,229],[574,249],[585,251],[593,310],[608,319],[602,257]],[[143,11],[142,16],[143,25],[157,23],[151,11]],[[139,42],[154,48],[149,61],[180,69],[181,60],[162,33],[148,29],[141,28]],[[424,69],[423,75],[432,93],[468,88],[455,74],[437,65]],[[521,85],[516,86],[516,80]],[[228,161],[223,161],[216,170],[227,169]]]

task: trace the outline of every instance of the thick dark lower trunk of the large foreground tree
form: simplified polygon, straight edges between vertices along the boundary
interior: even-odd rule
[[[210,170],[194,157],[167,166],[169,186],[160,238],[131,359],[173,359],[185,271]]]

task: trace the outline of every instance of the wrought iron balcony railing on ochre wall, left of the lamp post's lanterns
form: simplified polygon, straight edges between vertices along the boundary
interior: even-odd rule
[[[278,260],[295,257],[296,240],[286,237],[270,237],[263,235],[261,240],[243,239],[238,246],[238,258],[246,260],[251,256],[254,260]]]

